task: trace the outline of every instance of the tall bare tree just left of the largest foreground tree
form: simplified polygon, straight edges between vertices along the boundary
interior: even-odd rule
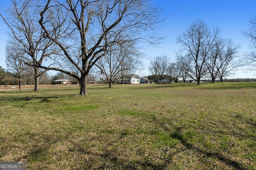
[[[12,0],[12,6],[6,12],[6,16],[0,14],[10,29],[9,35],[18,41],[26,53],[24,61],[33,66],[35,91],[39,90],[40,75],[46,71],[38,66],[42,64],[46,56],[55,51],[52,43],[43,37],[43,30],[38,24],[38,2],[36,0]]]

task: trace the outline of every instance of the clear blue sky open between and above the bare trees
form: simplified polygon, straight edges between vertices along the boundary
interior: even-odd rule
[[[1,12],[8,6],[9,0],[0,0]],[[153,0],[154,4],[164,7],[168,16],[161,27],[161,35],[166,36],[166,43],[162,47],[151,47],[147,57],[166,55],[174,61],[175,51],[179,45],[176,37],[185,31],[194,21],[202,19],[208,27],[219,27],[224,38],[231,38],[235,44],[241,45],[239,55],[248,51],[249,41],[243,36],[242,31],[248,29],[249,20],[256,16],[256,0]],[[6,68],[5,44],[8,36],[3,21],[0,20],[0,66]],[[145,60],[145,70],[140,75],[148,75],[148,64]],[[254,78],[253,72],[245,73],[240,69],[230,78]]]

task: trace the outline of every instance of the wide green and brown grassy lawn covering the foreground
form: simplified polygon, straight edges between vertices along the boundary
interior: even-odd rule
[[[0,92],[0,161],[26,169],[256,169],[256,82]]]

